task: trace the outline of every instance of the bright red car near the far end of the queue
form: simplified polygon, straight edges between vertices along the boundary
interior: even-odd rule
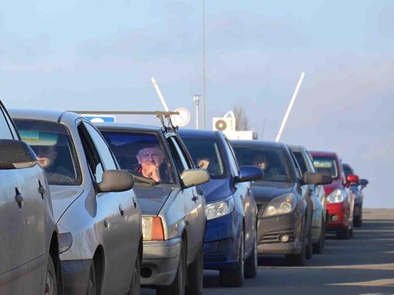
[[[345,177],[342,160],[336,153],[309,151],[317,171],[332,177],[332,183],[324,185],[328,210],[328,230],[335,230],[338,239],[349,239],[353,235],[354,197],[349,186],[357,183],[354,174]]]

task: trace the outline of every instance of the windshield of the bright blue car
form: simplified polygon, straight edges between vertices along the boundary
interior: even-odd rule
[[[204,168],[212,179],[226,177],[222,154],[214,138],[182,137],[196,167]]]

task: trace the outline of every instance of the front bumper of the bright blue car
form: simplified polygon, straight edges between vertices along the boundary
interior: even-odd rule
[[[233,268],[238,261],[238,245],[235,245],[242,220],[228,214],[208,220],[204,238],[204,268]]]

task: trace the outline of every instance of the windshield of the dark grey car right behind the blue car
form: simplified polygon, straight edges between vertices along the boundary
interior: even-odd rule
[[[258,166],[263,170],[264,177],[258,181],[291,182],[286,157],[281,148],[233,145],[233,149],[241,165]]]

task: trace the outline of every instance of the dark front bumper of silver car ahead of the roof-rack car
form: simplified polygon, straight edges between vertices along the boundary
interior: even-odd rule
[[[91,263],[91,259],[61,261],[65,294],[86,294]]]

